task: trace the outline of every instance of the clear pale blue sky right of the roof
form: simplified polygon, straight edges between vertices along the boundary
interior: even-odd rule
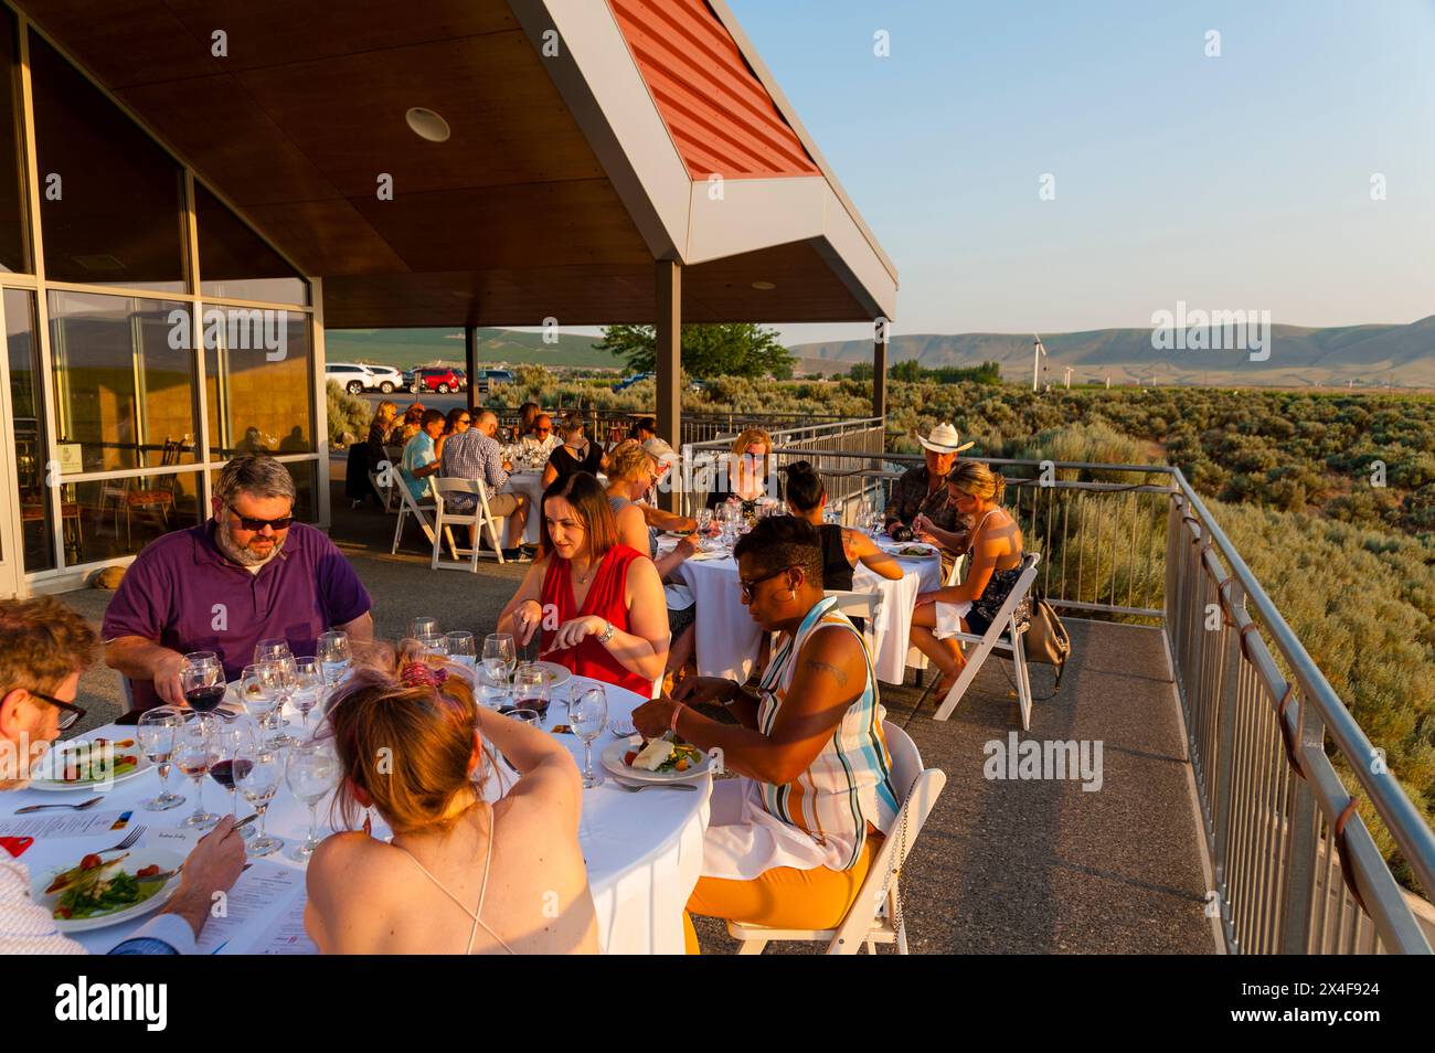
[[[895,263],[898,334],[1435,314],[1428,0],[728,1]]]

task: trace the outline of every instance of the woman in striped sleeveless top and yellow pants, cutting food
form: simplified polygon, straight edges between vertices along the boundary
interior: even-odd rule
[[[742,778],[716,782],[690,914],[776,928],[835,927],[897,816],[883,706],[862,636],[822,595],[822,547],[796,516],[762,519],[733,555],[748,614],[778,633],[755,693],[689,677],[633,713],[720,749]],[[736,724],[692,709],[719,703]],[[689,951],[697,938],[687,922]]]

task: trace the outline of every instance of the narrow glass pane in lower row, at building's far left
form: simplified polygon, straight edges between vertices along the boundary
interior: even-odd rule
[[[10,407],[14,415],[14,475],[20,489],[20,525],[24,535],[24,570],[55,568],[55,534],[44,486],[44,384],[40,383],[40,341],[36,334],[34,293],[4,291],[6,351],[10,359]],[[77,508],[72,486],[65,488],[65,541],[77,535]]]

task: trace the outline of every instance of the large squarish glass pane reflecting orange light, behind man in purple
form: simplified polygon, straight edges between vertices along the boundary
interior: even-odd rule
[[[195,461],[195,353],[189,306],[95,293],[50,293],[57,442],[82,471]]]

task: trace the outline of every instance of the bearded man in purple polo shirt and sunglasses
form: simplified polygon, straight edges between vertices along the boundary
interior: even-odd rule
[[[339,628],[373,638],[373,605],[354,568],[323,534],[293,522],[294,479],[267,456],[235,458],[214,486],[214,519],[146,545],[105,613],[105,663],[129,677],[135,709],[184,706],[189,651],[215,651],[225,679],[254,661],[260,640],[296,657]]]

